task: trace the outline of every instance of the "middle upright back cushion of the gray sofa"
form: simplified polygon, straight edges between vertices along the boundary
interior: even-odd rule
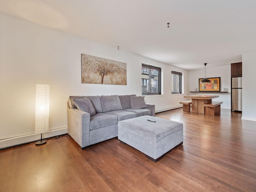
[[[100,96],[103,112],[122,110],[122,104],[118,95]]]

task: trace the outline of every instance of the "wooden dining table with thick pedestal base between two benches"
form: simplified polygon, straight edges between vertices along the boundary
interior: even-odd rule
[[[213,98],[218,98],[218,97],[219,97],[218,95],[206,95],[206,94],[184,96],[184,98],[190,98],[192,100],[191,112],[200,113],[200,114],[204,114],[203,104],[212,102]]]

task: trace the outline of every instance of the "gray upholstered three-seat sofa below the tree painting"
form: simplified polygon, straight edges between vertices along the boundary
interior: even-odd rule
[[[155,105],[143,96],[70,96],[67,103],[68,134],[81,146],[118,136],[118,121],[155,116]]]

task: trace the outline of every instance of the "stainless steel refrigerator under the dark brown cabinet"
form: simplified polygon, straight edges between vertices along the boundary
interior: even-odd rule
[[[242,111],[242,77],[232,78],[232,111]]]

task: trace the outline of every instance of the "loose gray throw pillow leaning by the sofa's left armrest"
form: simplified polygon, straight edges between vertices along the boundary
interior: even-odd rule
[[[90,116],[96,114],[94,106],[92,105],[92,102],[88,97],[82,99],[74,99],[73,101],[79,110],[90,113]]]

